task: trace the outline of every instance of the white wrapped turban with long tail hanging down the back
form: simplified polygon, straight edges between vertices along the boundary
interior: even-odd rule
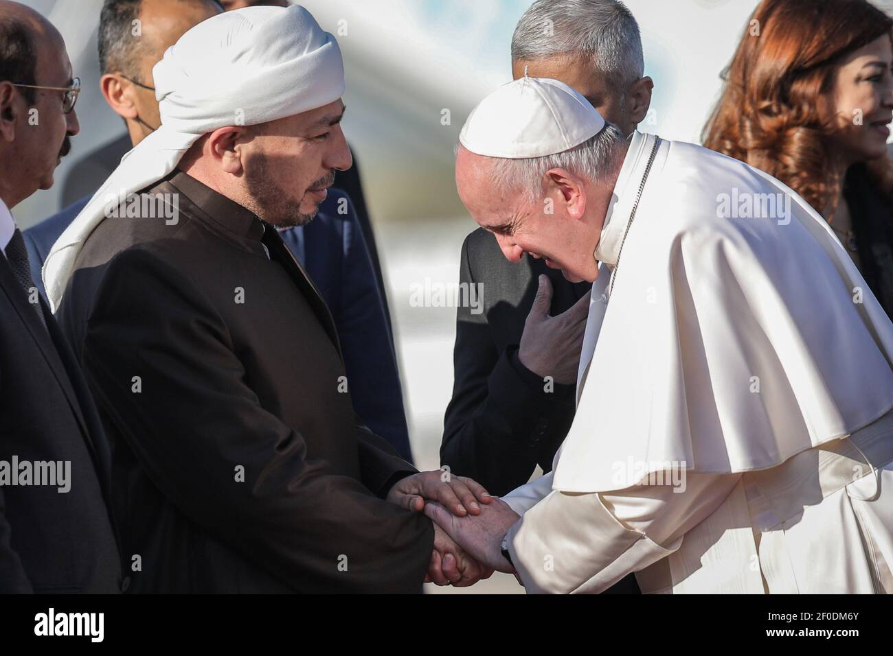
[[[46,257],[43,277],[53,311],[109,198],[123,199],[163,179],[214,129],[308,112],[335,102],[345,89],[338,42],[296,4],[213,16],[168,48],[152,72],[162,124],[124,155]]]

